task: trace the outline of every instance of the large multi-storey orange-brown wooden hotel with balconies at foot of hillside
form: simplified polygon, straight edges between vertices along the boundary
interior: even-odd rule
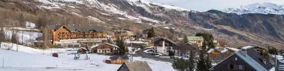
[[[52,35],[52,44],[62,47],[92,46],[107,41],[102,26],[92,25],[46,25]]]

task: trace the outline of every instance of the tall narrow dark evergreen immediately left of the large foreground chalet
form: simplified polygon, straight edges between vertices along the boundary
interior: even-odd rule
[[[205,54],[205,46],[202,46],[202,50],[200,50],[200,54],[199,54],[199,59],[197,62],[197,67],[196,70],[197,71],[208,71],[209,68],[206,66],[206,62],[205,62],[205,58],[204,58],[204,54]]]

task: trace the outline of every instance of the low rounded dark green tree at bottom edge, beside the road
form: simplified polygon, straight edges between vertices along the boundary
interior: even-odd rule
[[[184,71],[187,68],[186,61],[183,58],[174,60],[171,66],[178,71]]]

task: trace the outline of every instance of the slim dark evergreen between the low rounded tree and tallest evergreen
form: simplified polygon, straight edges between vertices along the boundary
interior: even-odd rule
[[[187,71],[194,71],[194,56],[193,56],[193,51],[190,50],[190,57],[189,59],[186,60],[187,64]]]

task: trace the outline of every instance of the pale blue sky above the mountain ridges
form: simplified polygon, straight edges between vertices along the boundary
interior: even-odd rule
[[[155,3],[173,5],[194,11],[208,11],[210,9],[239,8],[241,5],[255,3],[273,3],[284,5],[284,0],[150,0]]]

